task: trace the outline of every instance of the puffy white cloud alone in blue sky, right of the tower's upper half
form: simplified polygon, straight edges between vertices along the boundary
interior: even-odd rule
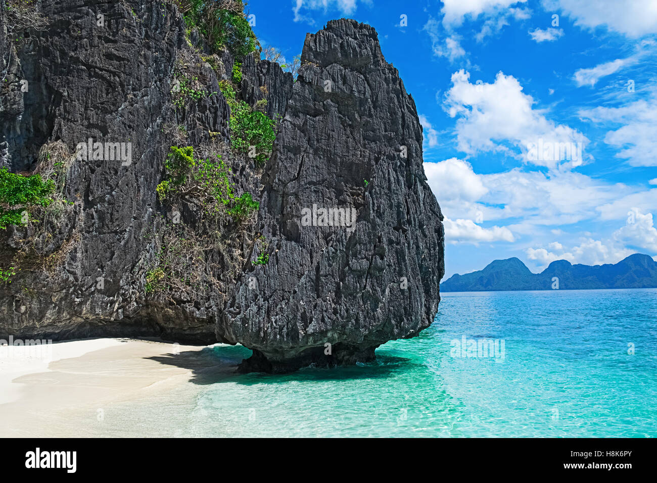
[[[459,150],[468,155],[478,151],[502,150],[509,142],[523,154],[531,143],[588,143],[576,129],[548,120],[542,110],[533,108],[530,95],[513,76],[499,72],[493,83],[470,83],[470,73],[459,70],[451,76],[452,87],[445,93],[443,107],[456,123]],[[517,154],[510,152],[510,154]],[[560,162],[558,158],[530,159],[538,166],[567,169],[581,164],[581,159]]]

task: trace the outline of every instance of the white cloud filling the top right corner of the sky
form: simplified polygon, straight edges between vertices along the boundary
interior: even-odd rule
[[[566,14],[582,28],[604,26],[629,37],[657,33],[654,0],[543,0],[543,7]]]

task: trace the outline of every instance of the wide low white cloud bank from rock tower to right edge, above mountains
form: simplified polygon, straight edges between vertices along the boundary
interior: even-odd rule
[[[546,174],[514,168],[482,175],[457,158],[425,162],[424,171],[445,214],[445,240],[451,244],[518,242],[524,235],[535,240],[567,237],[568,230],[561,229],[566,225],[622,219],[624,226],[605,239],[583,231],[579,241],[570,241],[568,247],[553,239],[526,248],[526,254],[545,267],[554,260],[615,264],[637,251],[651,256],[657,252],[657,228],[649,211],[657,207],[657,189],[612,185],[575,172]],[[483,225],[504,219],[519,221]]]

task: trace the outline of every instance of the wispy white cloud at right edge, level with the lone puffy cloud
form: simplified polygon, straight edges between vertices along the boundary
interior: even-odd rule
[[[620,149],[616,157],[627,159],[631,166],[657,166],[657,95],[622,107],[584,109],[579,116],[602,124],[623,124],[604,136],[605,143]]]

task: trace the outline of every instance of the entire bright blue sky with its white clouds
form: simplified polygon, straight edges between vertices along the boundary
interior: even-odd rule
[[[512,256],[532,271],[635,252],[657,260],[657,1],[252,0],[247,10],[263,47],[288,59],[333,18],[376,28],[424,128],[445,278]],[[555,143],[573,149],[545,150]]]

